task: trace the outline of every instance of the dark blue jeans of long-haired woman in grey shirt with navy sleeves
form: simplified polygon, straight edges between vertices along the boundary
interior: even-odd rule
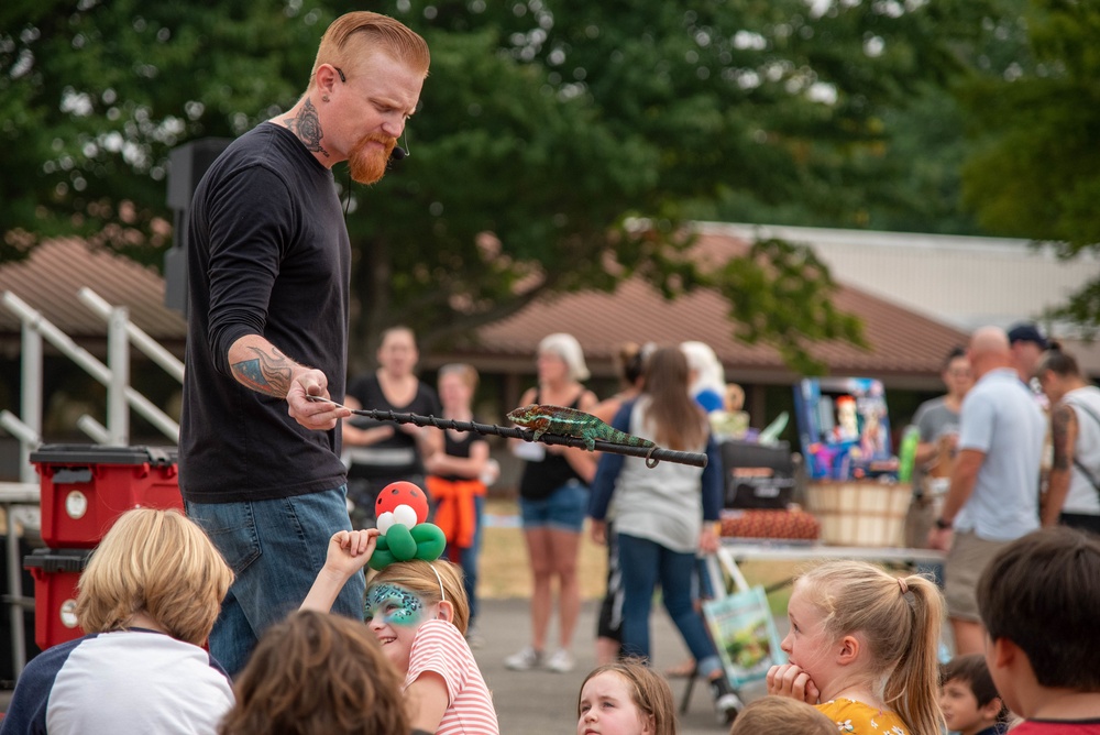
[[[618,546],[623,571],[623,655],[649,658],[649,612],[660,582],[664,608],[698,661],[700,673],[710,676],[721,670],[718,652],[692,603],[695,555],[672,551],[622,531]]]

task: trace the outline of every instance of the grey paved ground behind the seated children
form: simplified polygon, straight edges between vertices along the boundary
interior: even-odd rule
[[[592,641],[595,636],[596,603],[584,603],[581,611],[573,654],[576,669],[570,673],[549,671],[509,671],[504,658],[527,644],[529,626],[526,600],[486,600],[482,603],[479,627],[484,644],[474,649],[485,681],[493,690],[501,720],[501,732],[507,734],[568,735],[576,732],[576,696],[581,682],[595,667]],[[551,640],[554,638],[551,636]],[[653,665],[658,670],[679,663],[688,652],[680,634],[663,610],[652,617]],[[685,680],[671,682],[679,704]],[[763,692],[759,687],[741,692],[750,701]],[[680,735],[714,735],[726,728],[717,724],[711,704],[710,689],[702,682],[694,687],[688,713],[680,717]]]

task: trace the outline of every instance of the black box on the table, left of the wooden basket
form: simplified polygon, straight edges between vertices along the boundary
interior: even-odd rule
[[[794,495],[794,460],[788,442],[724,441],[722,470],[727,508],[783,511]]]

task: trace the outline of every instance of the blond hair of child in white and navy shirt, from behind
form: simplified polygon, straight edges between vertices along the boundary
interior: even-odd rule
[[[87,633],[107,633],[143,613],[173,638],[200,646],[232,583],[232,570],[194,522],[135,508],[119,516],[80,574],[77,619]]]

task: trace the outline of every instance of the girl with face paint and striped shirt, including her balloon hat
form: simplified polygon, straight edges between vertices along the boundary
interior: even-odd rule
[[[427,496],[413,483],[395,482],[378,493],[375,509],[377,528],[332,535],[301,607],[327,612],[370,563],[377,573],[367,585],[365,622],[405,677],[414,732],[497,735],[492,696],[464,638],[470,604],[462,574],[439,560],[446,539],[426,523]]]

